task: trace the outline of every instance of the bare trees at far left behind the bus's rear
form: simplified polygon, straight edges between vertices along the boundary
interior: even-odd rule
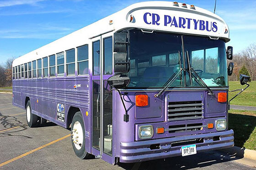
[[[9,58],[4,64],[0,65],[0,87],[12,85],[12,62],[14,58]]]

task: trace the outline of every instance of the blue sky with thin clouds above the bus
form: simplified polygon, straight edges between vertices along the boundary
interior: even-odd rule
[[[148,0],[0,0],[0,64],[141,1]],[[178,2],[214,7],[214,0]],[[255,7],[254,0],[217,0],[216,14],[227,22],[227,45],[235,52],[256,43]]]

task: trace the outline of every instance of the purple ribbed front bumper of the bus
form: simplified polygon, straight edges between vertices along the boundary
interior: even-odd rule
[[[219,136],[219,140],[213,141],[213,137]],[[146,160],[162,159],[181,155],[181,146],[171,146],[171,143],[192,139],[201,139],[197,152],[214,149],[224,149],[234,146],[234,131],[222,131],[208,134],[195,134],[165,139],[152,139],[130,143],[120,143],[120,162],[133,163]],[[159,149],[150,149],[152,144],[160,144]],[[189,144],[187,144],[189,145]]]

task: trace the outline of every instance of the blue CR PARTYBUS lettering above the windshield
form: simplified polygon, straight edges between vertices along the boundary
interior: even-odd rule
[[[151,19],[149,19],[151,18]],[[160,15],[146,12],[143,16],[144,22],[146,24],[152,25],[160,25]],[[218,30],[216,22],[196,20],[192,18],[183,18],[175,16],[171,17],[170,15],[164,15],[164,26],[175,26],[179,28],[187,28],[190,29],[192,24],[194,24],[193,28],[195,30],[206,30],[216,32]]]

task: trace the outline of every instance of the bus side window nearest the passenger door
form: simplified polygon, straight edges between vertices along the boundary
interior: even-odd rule
[[[88,74],[88,45],[77,47],[77,74]]]

